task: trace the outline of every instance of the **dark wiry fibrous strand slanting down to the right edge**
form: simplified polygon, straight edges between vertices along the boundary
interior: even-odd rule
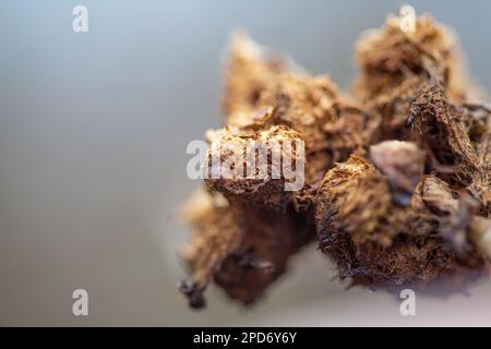
[[[408,122],[430,149],[434,171],[453,185],[466,188],[486,210],[491,200],[490,129],[488,125],[472,144],[468,130],[474,118],[451,104],[442,88],[433,84],[411,104]]]

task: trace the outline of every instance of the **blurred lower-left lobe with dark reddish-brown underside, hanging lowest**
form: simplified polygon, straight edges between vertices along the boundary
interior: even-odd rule
[[[199,195],[197,205],[207,212],[195,217],[195,201],[184,209],[194,227],[182,251],[192,280],[179,285],[192,308],[205,305],[203,293],[211,280],[232,299],[254,302],[285,272],[288,258],[314,236],[313,226],[300,216],[244,207],[204,191]]]

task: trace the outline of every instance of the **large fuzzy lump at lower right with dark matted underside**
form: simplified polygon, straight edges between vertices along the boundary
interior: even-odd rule
[[[328,171],[315,218],[321,250],[337,263],[340,277],[372,288],[422,288],[444,274],[482,270],[487,264],[479,252],[469,246],[457,254],[445,241],[445,232],[458,231],[462,221],[447,220],[457,217],[458,202],[439,181],[422,178],[410,205],[402,207],[394,204],[387,179],[359,155]],[[446,208],[431,210],[435,202]]]

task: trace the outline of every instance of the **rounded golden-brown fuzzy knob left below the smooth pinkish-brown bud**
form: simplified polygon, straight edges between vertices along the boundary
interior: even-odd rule
[[[386,178],[357,154],[327,171],[315,197],[321,245],[337,230],[346,231],[354,243],[390,245],[407,214],[393,204]]]

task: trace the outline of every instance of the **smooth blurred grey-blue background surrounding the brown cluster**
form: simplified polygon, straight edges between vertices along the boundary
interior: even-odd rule
[[[84,4],[89,32],[72,32]],[[220,290],[188,310],[176,281],[189,231],[176,209],[199,185],[185,146],[219,125],[228,34],[246,28],[347,86],[352,45],[399,1],[0,1],[1,325],[491,325],[491,285],[421,296],[346,291],[311,246],[244,310]],[[491,1],[411,1],[458,32],[491,89]],[[71,313],[84,288],[89,316]]]

